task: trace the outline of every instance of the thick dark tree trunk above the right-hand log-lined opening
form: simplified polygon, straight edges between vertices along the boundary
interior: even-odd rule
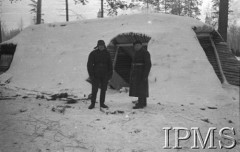
[[[229,0],[220,0],[219,4],[218,32],[225,41],[227,41],[228,4]]]

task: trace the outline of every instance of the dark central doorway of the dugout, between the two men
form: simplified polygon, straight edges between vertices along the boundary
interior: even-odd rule
[[[122,33],[114,37],[107,46],[113,61],[113,77],[110,86],[121,89],[129,86],[132,59],[135,54],[133,43],[139,40],[147,49],[151,37],[141,33]]]

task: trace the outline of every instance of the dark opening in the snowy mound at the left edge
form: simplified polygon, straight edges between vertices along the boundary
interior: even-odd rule
[[[9,69],[16,47],[17,45],[12,43],[0,45],[0,74]]]

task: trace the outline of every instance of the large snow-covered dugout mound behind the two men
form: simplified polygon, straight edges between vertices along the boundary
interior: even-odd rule
[[[202,26],[193,18],[163,14],[30,26],[2,44],[17,47],[0,82],[8,80],[8,86],[27,90],[88,94],[91,85],[86,82],[86,63],[97,40],[103,39],[110,48],[115,45],[112,40],[122,33],[136,33],[149,37],[151,97],[161,94],[172,100],[222,92],[221,82],[193,30]]]

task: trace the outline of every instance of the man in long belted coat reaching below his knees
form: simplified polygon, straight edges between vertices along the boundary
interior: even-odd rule
[[[148,75],[152,64],[150,53],[142,47],[141,41],[134,42],[133,46],[135,55],[131,67],[129,96],[138,97],[138,103],[133,109],[140,109],[147,106]]]

